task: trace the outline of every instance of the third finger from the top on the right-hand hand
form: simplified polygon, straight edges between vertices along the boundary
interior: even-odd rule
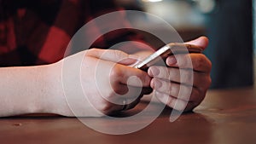
[[[176,99],[189,102],[199,103],[204,99],[205,95],[205,90],[183,84],[167,83],[158,78],[152,79],[151,86],[159,93],[172,95]]]

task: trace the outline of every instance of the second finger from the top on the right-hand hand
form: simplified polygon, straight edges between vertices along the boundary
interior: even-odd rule
[[[151,66],[148,75],[154,78],[160,78],[169,82],[176,82],[195,87],[205,88],[211,84],[209,74],[193,72],[191,69],[178,69],[175,67]],[[166,83],[167,83],[166,82]]]

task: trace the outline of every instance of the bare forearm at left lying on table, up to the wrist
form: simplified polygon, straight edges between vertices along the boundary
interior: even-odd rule
[[[55,90],[60,86],[53,83],[51,68],[50,65],[0,68],[0,117],[54,112]]]

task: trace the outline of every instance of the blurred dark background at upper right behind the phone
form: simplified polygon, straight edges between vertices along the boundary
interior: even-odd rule
[[[116,0],[125,9],[156,14],[183,41],[205,35],[212,61],[212,89],[253,85],[252,0]],[[138,25],[139,25],[138,19]],[[154,21],[150,26],[156,26]],[[147,36],[146,36],[147,37]],[[150,39],[150,37],[147,37]]]

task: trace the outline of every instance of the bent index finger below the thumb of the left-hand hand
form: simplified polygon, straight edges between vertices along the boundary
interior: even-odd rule
[[[135,87],[149,87],[151,80],[147,72],[119,64],[113,66],[110,79],[112,84],[128,84],[129,81],[129,85]]]

